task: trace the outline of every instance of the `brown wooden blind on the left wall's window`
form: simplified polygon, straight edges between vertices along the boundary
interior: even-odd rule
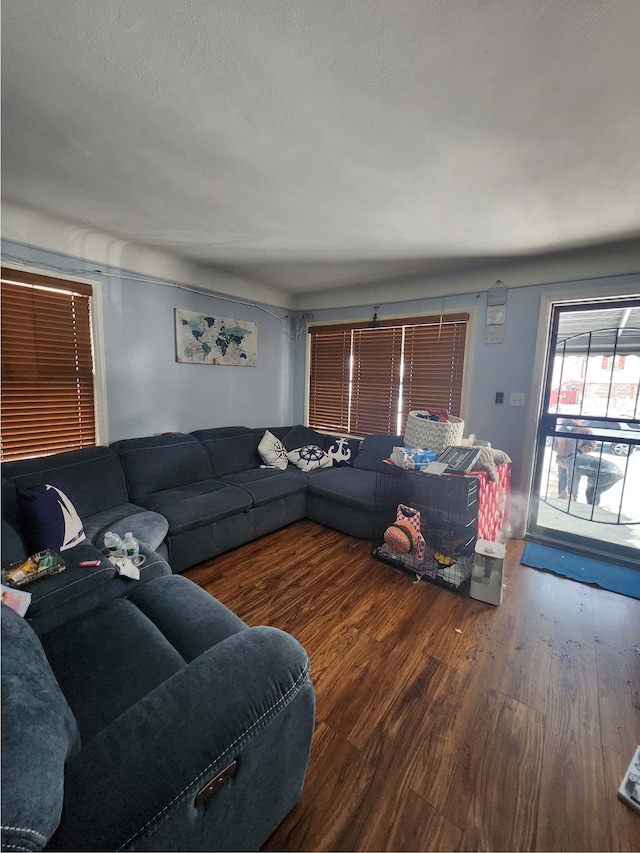
[[[2,269],[2,459],[95,445],[91,287]]]

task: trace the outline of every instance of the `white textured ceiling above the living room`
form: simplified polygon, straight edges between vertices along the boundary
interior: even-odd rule
[[[292,293],[640,234],[638,0],[2,0],[7,201]]]

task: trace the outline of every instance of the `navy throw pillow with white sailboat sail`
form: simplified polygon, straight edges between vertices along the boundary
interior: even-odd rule
[[[86,539],[78,512],[67,495],[48,483],[18,490],[22,532],[30,554],[66,551]]]

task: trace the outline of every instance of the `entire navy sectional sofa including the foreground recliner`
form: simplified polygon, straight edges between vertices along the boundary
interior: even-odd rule
[[[264,467],[264,431],[3,463],[3,568],[39,550],[24,507],[45,486],[86,535],[64,572],[27,587],[25,618],[1,608],[3,850],[256,850],[299,799],[315,719],[304,649],[176,573],[304,517],[379,536],[376,470],[402,437],[303,472]],[[337,440],[270,432],[288,450]],[[140,541],[138,580],[107,560],[107,530]]]

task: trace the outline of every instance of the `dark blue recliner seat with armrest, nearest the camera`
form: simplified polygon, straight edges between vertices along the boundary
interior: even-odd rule
[[[293,637],[178,575],[40,637],[1,609],[3,850],[257,850],[299,799]]]

